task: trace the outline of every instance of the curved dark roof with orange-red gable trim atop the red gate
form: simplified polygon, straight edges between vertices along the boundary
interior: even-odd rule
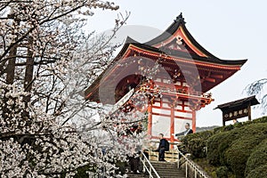
[[[193,47],[194,49],[191,50],[192,53],[182,51],[179,49],[168,48],[166,45],[159,45],[163,42],[166,42],[170,38],[175,40],[176,39],[175,34],[177,35],[177,32],[179,32],[178,30],[181,29],[183,36],[186,38],[185,40],[187,40],[183,43],[183,45],[188,48]],[[229,69],[232,70],[231,74],[227,74],[225,77],[223,77],[223,79],[216,81],[216,84],[214,85],[218,85],[221,82],[223,82],[223,80],[225,80],[226,78],[231,77],[231,75],[233,75],[237,70],[239,70],[240,67],[247,61],[247,60],[237,60],[237,61],[221,60],[215,57],[212,53],[207,52],[206,49],[202,47],[200,44],[198,44],[198,42],[194,39],[194,37],[190,35],[190,32],[185,27],[185,21],[182,17],[182,13],[174,20],[174,22],[166,29],[164,33],[151,39],[146,43],[143,44],[139,43],[135,41],[133,38],[128,36],[125,40],[125,44],[123,45],[121,51],[117,54],[117,57],[110,62],[107,69],[109,69],[109,67],[111,67],[116,61],[123,59],[125,53],[128,53],[130,50],[133,49],[139,49],[141,52],[155,53],[157,55],[163,54],[164,56],[168,56],[169,57],[168,59],[170,60],[182,59],[182,62],[183,61],[196,62],[198,64],[206,64],[206,66],[214,66],[214,68],[216,66],[223,66],[226,68],[229,67]],[[198,53],[194,53],[194,50]],[[208,68],[213,68],[213,67],[208,67]],[[92,95],[98,94],[98,87],[101,78],[107,72],[107,69],[104,70],[102,74],[93,82],[93,84],[85,90],[86,99],[90,98],[90,100],[93,101],[95,100],[94,99],[95,97],[93,97]],[[214,85],[211,85],[209,89],[214,87]]]

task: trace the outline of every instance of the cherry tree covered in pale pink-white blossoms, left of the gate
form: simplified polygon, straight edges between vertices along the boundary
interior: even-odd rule
[[[86,34],[85,20],[94,9],[117,8],[100,0],[0,2],[1,177],[72,177],[83,168],[119,176],[116,161],[142,144],[142,134],[125,136],[142,113],[121,123],[133,116],[114,117],[84,97],[119,46],[109,41],[128,14],[110,36]]]

